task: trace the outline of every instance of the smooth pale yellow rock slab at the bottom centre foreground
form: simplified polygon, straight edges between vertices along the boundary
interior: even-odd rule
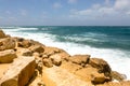
[[[55,86],[92,86],[87,82],[79,80],[76,75],[67,70],[58,67],[46,69],[44,74],[48,76],[48,78],[55,83]]]

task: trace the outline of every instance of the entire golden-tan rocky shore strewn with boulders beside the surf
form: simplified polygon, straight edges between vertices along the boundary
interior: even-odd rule
[[[0,30],[0,86],[130,86],[125,80],[101,58],[70,56]]]

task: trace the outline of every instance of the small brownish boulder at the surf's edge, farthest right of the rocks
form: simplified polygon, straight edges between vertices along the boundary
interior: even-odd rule
[[[126,80],[127,78],[127,76],[125,75],[125,74],[120,74],[119,72],[117,72],[117,71],[112,71],[112,78],[113,80],[117,80],[117,81],[119,81],[119,82],[121,82],[121,81],[123,81],[123,80]]]

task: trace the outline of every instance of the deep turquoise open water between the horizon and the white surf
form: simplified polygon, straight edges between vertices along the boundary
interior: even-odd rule
[[[58,42],[72,42],[99,48],[130,51],[130,27],[29,26],[22,28],[23,29],[17,28],[17,31],[28,33],[49,33],[54,35],[55,38],[53,40]]]

